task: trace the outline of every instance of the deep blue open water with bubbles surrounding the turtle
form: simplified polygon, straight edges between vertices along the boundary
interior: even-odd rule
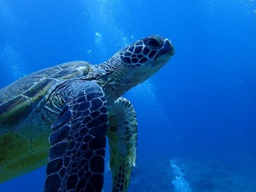
[[[0,87],[66,61],[99,64],[153,34],[176,54],[124,95],[139,122],[129,191],[256,192],[256,0],[0,0]],[[40,192],[44,177],[0,191]]]

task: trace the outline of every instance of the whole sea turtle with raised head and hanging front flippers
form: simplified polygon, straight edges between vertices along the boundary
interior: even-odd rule
[[[147,36],[92,65],[74,61],[0,89],[0,182],[47,164],[44,192],[102,192],[106,136],[112,191],[126,192],[137,150],[137,119],[121,96],[174,55]]]

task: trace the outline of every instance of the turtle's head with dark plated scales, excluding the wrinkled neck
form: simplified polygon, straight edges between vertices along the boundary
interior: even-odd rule
[[[168,62],[174,55],[174,47],[167,38],[154,35],[128,45],[119,54],[124,66],[131,69],[131,78],[137,85]]]

